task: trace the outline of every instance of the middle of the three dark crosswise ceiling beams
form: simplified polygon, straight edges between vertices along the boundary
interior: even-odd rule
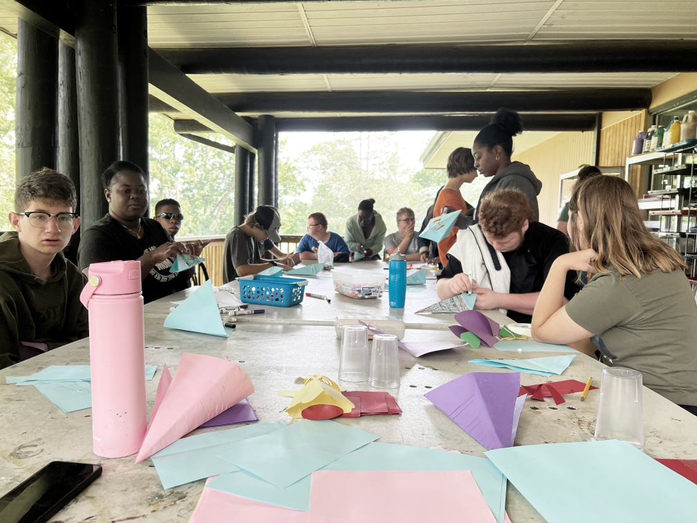
[[[234,112],[480,114],[507,107],[520,112],[603,112],[646,109],[650,89],[558,91],[323,91],[216,94]],[[169,102],[168,102],[169,103]]]

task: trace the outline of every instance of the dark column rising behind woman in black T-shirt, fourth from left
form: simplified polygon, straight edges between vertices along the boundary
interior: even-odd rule
[[[148,174],[148,11],[118,8],[121,158]]]

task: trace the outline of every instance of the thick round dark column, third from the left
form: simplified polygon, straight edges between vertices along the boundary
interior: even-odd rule
[[[120,156],[116,3],[75,1],[82,231],[109,210],[100,175]]]

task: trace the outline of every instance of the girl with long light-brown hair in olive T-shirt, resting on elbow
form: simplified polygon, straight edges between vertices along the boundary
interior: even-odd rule
[[[576,252],[552,264],[533,339],[585,341],[586,354],[638,370],[645,386],[697,415],[697,304],[680,254],[648,232],[634,190],[614,176],[576,184],[569,233]],[[569,270],[590,280],[564,305]]]

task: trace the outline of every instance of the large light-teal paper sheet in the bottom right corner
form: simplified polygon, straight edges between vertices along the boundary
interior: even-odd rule
[[[697,517],[697,485],[627,441],[526,445],[485,454],[549,523],[677,523]]]

